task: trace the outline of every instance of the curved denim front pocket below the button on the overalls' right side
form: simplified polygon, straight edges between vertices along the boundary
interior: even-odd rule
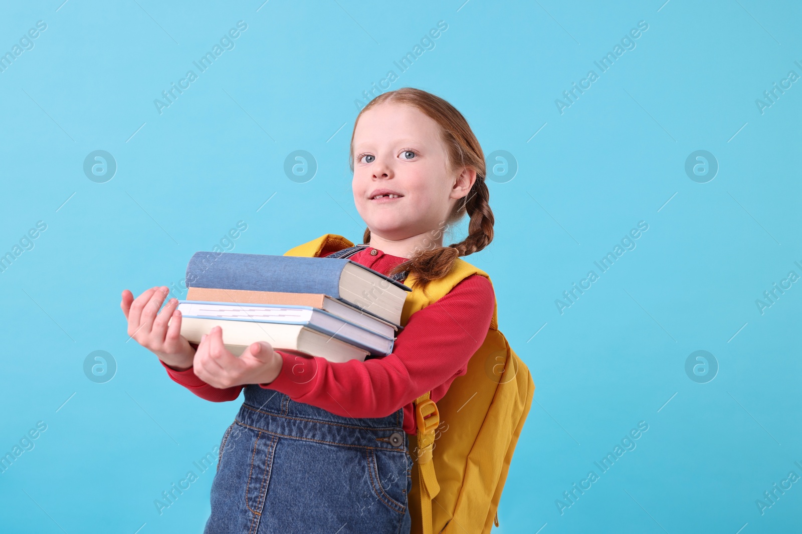
[[[367,469],[371,489],[380,502],[399,514],[407,511],[407,494],[411,484],[407,453],[368,448]]]

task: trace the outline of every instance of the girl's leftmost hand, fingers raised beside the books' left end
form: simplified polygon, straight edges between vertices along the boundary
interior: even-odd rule
[[[186,371],[192,367],[195,348],[180,335],[181,312],[176,310],[178,299],[170,299],[158,313],[167,294],[167,287],[151,287],[135,300],[133,293],[125,289],[119,306],[128,319],[128,335],[159,356],[169,367],[176,371]]]

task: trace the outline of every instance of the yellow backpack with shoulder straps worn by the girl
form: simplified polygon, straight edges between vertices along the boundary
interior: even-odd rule
[[[286,256],[316,257],[322,251],[353,247],[342,235],[326,234],[286,251]],[[488,274],[461,258],[426,294],[407,294],[401,325],[415,311],[446,295],[460,280]],[[411,287],[414,275],[405,285]],[[498,523],[498,505],[512,452],[532,404],[535,384],[529,368],[498,330],[497,306],[488,335],[435,404],[427,391],[415,399],[417,436],[410,436],[412,470],[409,495],[413,534],[490,532]],[[443,427],[443,428],[441,428]],[[435,474],[436,472],[436,474]]]

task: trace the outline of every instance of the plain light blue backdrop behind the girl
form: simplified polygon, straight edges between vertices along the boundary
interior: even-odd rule
[[[0,73],[0,252],[47,223],[0,274],[0,452],[47,424],[0,475],[3,532],[201,532],[213,472],[162,515],[153,501],[240,403],[197,398],[127,342],[120,293],[177,287],[237,221],[236,252],[327,232],[361,242],[354,100],[388,70],[391,89],[446,98],[485,155],[519,166],[488,181],[495,239],[468,258],[537,386],[497,532],[798,528],[802,482],[763,515],[755,504],[802,476],[802,283],[763,315],[755,305],[802,275],[802,82],[755,105],[802,74],[798,3],[61,2],[3,2],[0,18],[3,53],[47,23]],[[153,100],[239,20],[235,48],[159,114]],[[393,62],[440,20],[448,30],[401,73]],[[560,114],[555,99],[638,21],[636,48]],[[118,165],[107,183],[83,173],[95,150]],[[318,163],[306,183],[283,171],[296,150]],[[685,174],[696,150],[719,162],[708,183]],[[561,315],[555,299],[638,221],[637,247]],[[83,374],[95,350],[117,363],[107,383]],[[686,375],[697,350],[719,363],[709,383]],[[639,421],[637,448],[600,474],[593,462]],[[555,500],[590,470],[600,479],[561,515]]]

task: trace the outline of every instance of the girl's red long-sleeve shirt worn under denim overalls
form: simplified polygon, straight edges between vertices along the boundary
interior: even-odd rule
[[[323,251],[321,256],[332,252]],[[384,275],[406,261],[373,247],[350,259]],[[384,417],[403,407],[403,429],[415,434],[412,401],[431,391],[430,398],[437,402],[452,381],[465,374],[468,360],[488,333],[495,298],[488,279],[470,275],[448,295],[413,313],[396,337],[391,354],[363,362],[330,362],[277,350],[283,359],[281,372],[273,382],[259,385],[344,417]],[[213,387],[199,379],[192,367],[176,371],[164,362],[162,365],[177,383],[213,402],[237,399],[244,387]]]

